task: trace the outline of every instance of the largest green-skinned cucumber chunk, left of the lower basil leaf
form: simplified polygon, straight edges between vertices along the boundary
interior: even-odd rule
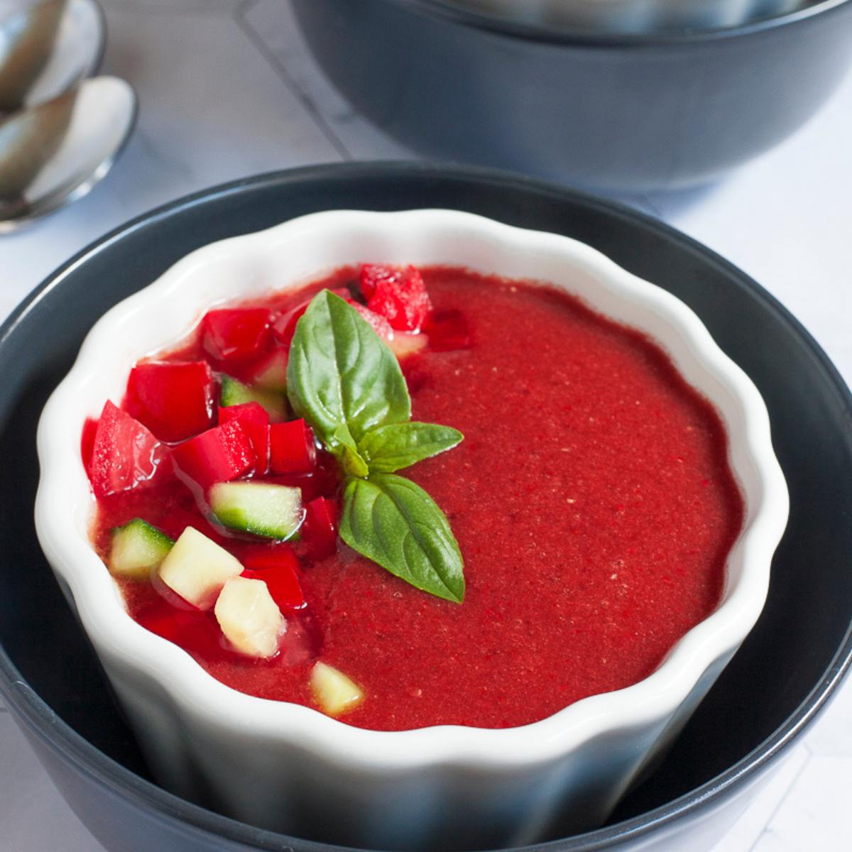
[[[210,509],[234,530],[266,538],[292,538],[302,525],[302,489],[267,482],[217,482],[210,488]]]

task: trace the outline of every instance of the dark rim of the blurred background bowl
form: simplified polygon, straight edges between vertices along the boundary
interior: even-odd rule
[[[685,29],[682,32],[589,32],[568,26],[527,23],[500,18],[497,15],[468,9],[453,0],[383,0],[404,7],[406,11],[420,14],[433,20],[444,20],[452,24],[485,32],[492,36],[516,38],[530,43],[562,45],[565,47],[602,47],[642,49],[652,47],[676,47],[682,44],[711,43],[748,37],[770,32],[799,22],[810,20],[819,14],[831,13],[852,3],[852,0],[819,0],[801,9],[770,15],[759,20],[733,26]]]

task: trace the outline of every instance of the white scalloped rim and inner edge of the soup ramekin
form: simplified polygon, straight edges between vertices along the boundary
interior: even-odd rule
[[[228,688],[181,648],[130,618],[89,543],[94,498],[79,452],[85,418],[97,417],[107,398],[118,403],[133,362],[179,341],[211,305],[287,289],[332,268],[370,261],[444,263],[561,286],[600,313],[648,333],[716,407],[746,504],[744,526],[728,556],[722,602],[676,643],[653,674],[518,728],[446,725],[374,731],[309,707]],[[44,407],[37,450],[42,471],[37,535],[99,654],[128,670],[146,672],[177,706],[191,707],[218,725],[293,741],[326,760],[373,770],[528,766],[567,754],[607,731],[671,716],[757,621],[789,512],[763,399],[690,308],[577,240],[456,210],[314,213],[193,251],[153,284],[119,302],[89,331],[72,370]]]

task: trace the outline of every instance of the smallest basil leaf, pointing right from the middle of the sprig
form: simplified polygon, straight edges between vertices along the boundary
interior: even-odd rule
[[[452,450],[463,437],[458,429],[437,423],[389,423],[370,429],[359,441],[358,450],[372,473],[393,473]]]

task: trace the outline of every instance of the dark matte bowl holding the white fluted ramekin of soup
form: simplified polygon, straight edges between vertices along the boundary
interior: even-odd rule
[[[610,825],[550,848],[626,849],[709,817],[801,734],[852,659],[852,398],[797,321],[711,251],[625,207],[495,172],[348,164],[239,181],[112,233],[14,312],[0,331],[0,693],[108,849],[326,848],[226,820],[147,780],[31,516],[38,416],[97,317],[211,240],[346,207],[449,207],[582,239],[687,302],[757,383],[792,496],[763,616]]]

